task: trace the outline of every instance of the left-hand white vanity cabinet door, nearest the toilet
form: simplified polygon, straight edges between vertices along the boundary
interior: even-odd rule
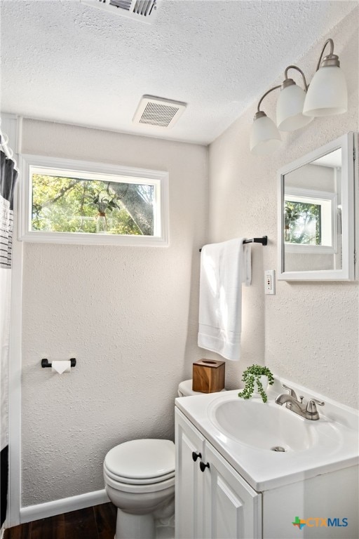
[[[176,539],[203,539],[204,481],[199,463],[205,451],[205,440],[191,422],[176,410]],[[193,459],[194,453],[196,461]],[[199,456],[201,454],[201,456]]]

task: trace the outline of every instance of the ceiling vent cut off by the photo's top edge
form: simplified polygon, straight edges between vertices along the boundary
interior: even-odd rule
[[[115,15],[123,15],[151,23],[158,7],[158,0],[80,0],[86,6],[100,8]]]

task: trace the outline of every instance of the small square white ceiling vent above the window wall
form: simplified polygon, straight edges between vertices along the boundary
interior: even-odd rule
[[[137,107],[134,124],[157,128],[170,128],[181,116],[186,103],[156,98],[153,95],[142,95],[142,100]]]

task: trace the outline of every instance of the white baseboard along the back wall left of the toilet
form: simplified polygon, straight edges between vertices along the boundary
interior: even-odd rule
[[[109,502],[106,491],[93,491],[86,494],[71,496],[70,498],[62,498],[53,502],[39,503],[38,505],[29,505],[20,509],[20,524],[31,522],[33,520],[46,519],[46,517],[54,517],[55,514],[68,513],[100,503]]]

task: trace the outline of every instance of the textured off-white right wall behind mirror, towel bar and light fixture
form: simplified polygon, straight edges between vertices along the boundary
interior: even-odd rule
[[[242,361],[231,368],[227,364],[227,385],[236,387],[253,361],[265,362],[284,378],[358,406],[358,282],[277,281],[276,295],[264,296],[263,270],[277,267],[278,168],[359,129],[358,8],[327,37],[334,39],[334,53],[346,74],[348,113],[283,133],[276,153],[253,157],[249,138],[254,104],[210,145],[210,239],[269,236],[269,246],[253,247],[253,286],[243,291]],[[316,69],[324,42],[325,38],[296,62],[306,74],[312,76]],[[275,117],[274,94],[263,103],[270,117]]]

